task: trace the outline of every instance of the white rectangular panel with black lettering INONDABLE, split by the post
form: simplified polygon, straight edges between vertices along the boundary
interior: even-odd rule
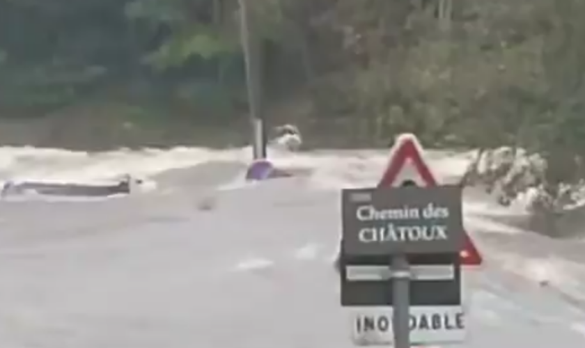
[[[392,308],[350,308],[352,340],[359,346],[393,345]],[[465,340],[462,306],[416,306],[410,308],[412,345],[456,343]]]

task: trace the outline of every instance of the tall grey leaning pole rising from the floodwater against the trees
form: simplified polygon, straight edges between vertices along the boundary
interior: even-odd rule
[[[266,136],[263,121],[262,86],[260,86],[260,62],[258,38],[253,28],[248,0],[240,1],[242,48],[246,61],[246,84],[252,130],[253,159],[266,158]]]

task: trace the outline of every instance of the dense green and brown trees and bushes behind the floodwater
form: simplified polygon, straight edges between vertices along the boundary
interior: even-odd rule
[[[343,145],[387,144],[405,130],[436,145],[574,154],[585,143],[584,1],[249,3],[265,100],[282,106],[270,118]],[[0,115],[115,98],[202,124],[242,118],[239,8],[0,0]]]

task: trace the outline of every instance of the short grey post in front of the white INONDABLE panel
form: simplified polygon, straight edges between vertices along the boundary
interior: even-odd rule
[[[394,347],[410,348],[410,267],[406,255],[392,257]]]

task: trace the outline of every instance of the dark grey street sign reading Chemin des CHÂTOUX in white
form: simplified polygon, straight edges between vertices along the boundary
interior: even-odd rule
[[[347,255],[455,253],[462,249],[462,188],[390,187],[342,191]]]

